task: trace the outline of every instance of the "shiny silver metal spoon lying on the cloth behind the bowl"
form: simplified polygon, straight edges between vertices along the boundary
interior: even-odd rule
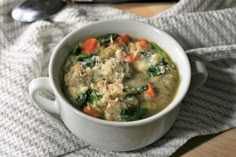
[[[14,20],[20,22],[34,22],[45,19],[59,12],[67,3],[79,4],[117,4],[134,2],[174,2],[176,0],[26,0],[18,4],[11,12]]]

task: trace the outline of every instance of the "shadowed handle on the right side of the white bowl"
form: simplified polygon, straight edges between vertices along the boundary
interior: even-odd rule
[[[195,56],[188,56],[191,64],[191,83],[189,93],[200,88],[207,80],[208,72],[205,64]]]

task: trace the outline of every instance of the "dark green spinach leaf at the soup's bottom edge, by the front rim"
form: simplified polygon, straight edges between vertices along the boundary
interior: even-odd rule
[[[130,106],[123,108],[120,116],[123,121],[134,121],[142,119],[147,111],[148,110],[146,108],[141,108],[140,106]]]

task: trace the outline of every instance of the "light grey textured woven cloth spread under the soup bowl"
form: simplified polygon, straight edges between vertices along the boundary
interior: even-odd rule
[[[142,18],[108,6],[68,5],[51,20],[22,24],[11,9],[20,1],[0,1],[0,156],[169,156],[194,136],[236,126],[236,5],[234,0],[181,0],[171,9]],[[29,82],[47,76],[55,45],[69,32],[105,19],[136,19],[170,33],[205,61],[207,82],[183,100],[174,126],[160,140],[132,152],[98,150],[35,107]],[[171,45],[170,45],[171,46]]]

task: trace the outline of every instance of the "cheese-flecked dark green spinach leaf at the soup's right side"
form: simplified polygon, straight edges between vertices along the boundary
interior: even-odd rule
[[[168,70],[169,64],[164,59],[162,59],[160,63],[151,65],[151,67],[148,69],[148,73],[150,76],[154,77],[164,74]]]

